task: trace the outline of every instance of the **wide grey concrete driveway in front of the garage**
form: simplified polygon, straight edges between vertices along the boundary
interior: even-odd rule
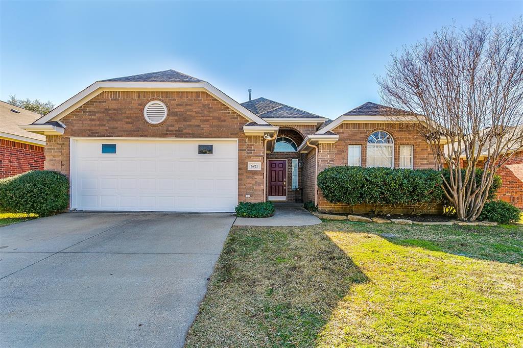
[[[183,346],[233,222],[65,213],[0,228],[0,346]]]

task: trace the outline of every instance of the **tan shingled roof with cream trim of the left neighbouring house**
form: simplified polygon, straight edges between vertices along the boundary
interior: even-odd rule
[[[8,140],[46,145],[46,136],[23,130],[20,125],[33,123],[41,117],[32,112],[0,100],[0,138]]]

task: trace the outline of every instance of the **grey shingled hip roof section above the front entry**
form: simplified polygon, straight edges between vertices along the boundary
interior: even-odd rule
[[[311,112],[303,111],[291,106],[279,103],[274,100],[267,98],[257,98],[243,102],[241,104],[244,108],[251,111],[252,113],[258,115],[263,119],[287,119],[287,118],[322,118],[319,115],[313,114]]]

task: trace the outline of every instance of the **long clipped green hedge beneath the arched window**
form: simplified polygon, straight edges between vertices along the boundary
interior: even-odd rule
[[[441,176],[433,169],[331,167],[318,175],[331,203],[396,205],[441,202]]]

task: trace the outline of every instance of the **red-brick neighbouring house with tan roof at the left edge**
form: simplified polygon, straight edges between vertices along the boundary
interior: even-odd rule
[[[46,137],[20,128],[40,117],[38,113],[0,100],[0,179],[43,169]]]

